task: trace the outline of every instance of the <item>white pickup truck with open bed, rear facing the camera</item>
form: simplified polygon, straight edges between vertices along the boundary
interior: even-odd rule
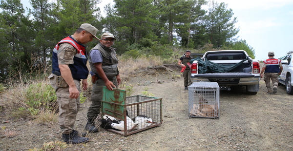
[[[205,61],[208,59],[210,62],[222,65],[221,68],[228,70],[227,72],[215,72],[207,73],[201,72],[201,64],[198,60],[194,60],[191,64],[191,81],[192,82],[217,82],[220,90],[230,91],[230,86],[241,85],[246,86],[246,92],[248,94],[257,94],[259,90],[260,80],[260,66],[257,60],[252,59],[248,56],[244,50],[219,50],[219,51],[208,51],[202,57]],[[244,60],[246,59],[246,60]],[[239,63],[243,62],[243,63]],[[191,63],[191,62],[190,62]],[[233,66],[239,63],[237,67],[226,67],[226,65]],[[209,69],[209,67],[208,67]]]

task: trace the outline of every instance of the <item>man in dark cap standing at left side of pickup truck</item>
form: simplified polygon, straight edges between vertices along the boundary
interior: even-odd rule
[[[190,51],[187,50],[185,52],[185,56],[181,57],[178,61],[178,65],[181,65],[182,67],[186,67],[183,71],[183,77],[184,77],[184,88],[185,90],[188,90],[188,86],[192,84],[191,82],[191,70],[187,63],[192,59],[193,57],[190,56]]]

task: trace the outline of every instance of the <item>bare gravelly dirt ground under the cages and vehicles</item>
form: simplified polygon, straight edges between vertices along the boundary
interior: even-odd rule
[[[163,124],[129,136],[100,128],[90,133],[87,144],[69,144],[64,151],[293,151],[293,97],[278,87],[267,94],[263,79],[256,95],[245,87],[220,91],[219,119],[188,118],[188,91],[184,90],[180,68],[165,66],[139,71],[128,77],[133,95],[147,91],[163,98]],[[75,129],[84,131],[89,101],[82,104]],[[42,148],[50,141],[62,141],[58,126],[36,125],[31,120],[0,117],[0,127],[17,133],[0,135],[0,151]]]

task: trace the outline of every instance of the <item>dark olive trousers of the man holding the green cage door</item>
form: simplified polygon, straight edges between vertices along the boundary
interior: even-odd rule
[[[118,88],[116,76],[109,80],[114,83],[116,88]],[[105,82],[101,78],[99,78],[96,83],[93,84],[92,93],[90,95],[90,100],[92,103],[87,110],[87,118],[97,118],[98,114],[100,113],[101,101],[103,99],[103,86],[105,86]]]

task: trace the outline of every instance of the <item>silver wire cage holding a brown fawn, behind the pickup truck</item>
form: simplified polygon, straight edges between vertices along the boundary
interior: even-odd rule
[[[217,82],[193,82],[188,86],[189,117],[219,119],[220,88]]]

